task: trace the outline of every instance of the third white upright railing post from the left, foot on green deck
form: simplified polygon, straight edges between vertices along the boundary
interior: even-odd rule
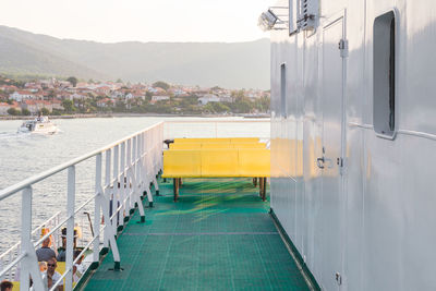
[[[95,193],[101,195],[101,153],[96,156],[96,177],[95,177]],[[96,196],[94,199],[94,233],[95,241],[93,245],[93,264],[92,269],[96,269],[100,264],[100,199]]]

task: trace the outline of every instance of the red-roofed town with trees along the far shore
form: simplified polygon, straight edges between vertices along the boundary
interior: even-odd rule
[[[0,75],[0,116],[269,116],[269,90],[130,82],[16,81]]]

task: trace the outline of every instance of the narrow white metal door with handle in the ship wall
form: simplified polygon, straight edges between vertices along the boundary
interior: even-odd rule
[[[322,168],[322,225],[323,234],[319,247],[322,256],[322,277],[326,290],[340,290],[342,280],[342,153],[343,153],[343,84],[346,37],[343,17],[336,19],[323,27],[322,108],[323,148],[317,159]]]

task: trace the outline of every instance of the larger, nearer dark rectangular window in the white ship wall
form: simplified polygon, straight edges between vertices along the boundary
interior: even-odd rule
[[[389,11],[374,21],[373,44],[374,131],[393,138],[396,132],[396,16]]]

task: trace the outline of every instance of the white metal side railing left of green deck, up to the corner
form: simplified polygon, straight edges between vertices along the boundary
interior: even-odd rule
[[[150,182],[158,190],[156,175],[162,167],[162,140],[164,123],[158,123],[104,148],[1,190],[0,202],[10,196],[17,195],[20,192],[22,193],[22,228],[20,252],[16,253],[14,258],[8,258],[8,265],[1,269],[0,278],[4,278],[13,268],[20,266],[21,290],[28,290],[29,277],[32,277],[35,290],[45,290],[35,247],[45,239],[59,232],[60,228],[64,225],[66,225],[65,271],[57,282],[53,282],[50,290],[55,290],[57,286],[62,284],[63,279],[65,279],[65,290],[72,290],[73,265],[87,250],[93,250],[93,264],[94,266],[98,266],[101,239],[104,247],[110,246],[112,250],[114,268],[120,268],[120,254],[116,241],[117,228],[123,227],[124,216],[131,214],[131,209],[134,208],[135,204],[138,207],[141,220],[145,220],[141,196],[146,194],[148,201],[153,202],[149,189]],[[76,166],[92,158],[95,158],[95,194],[76,207]],[[102,165],[104,158],[105,165]],[[57,221],[56,226],[52,226],[49,232],[35,242],[33,233],[38,230],[32,230],[33,187],[47,178],[64,171],[68,173],[66,216],[61,221]],[[104,182],[102,178],[105,178]],[[94,234],[81,254],[74,259],[74,220],[92,203],[94,203]],[[111,215],[110,204],[112,205]],[[100,227],[101,213],[105,221],[102,228]],[[100,238],[102,230],[104,235]]]

